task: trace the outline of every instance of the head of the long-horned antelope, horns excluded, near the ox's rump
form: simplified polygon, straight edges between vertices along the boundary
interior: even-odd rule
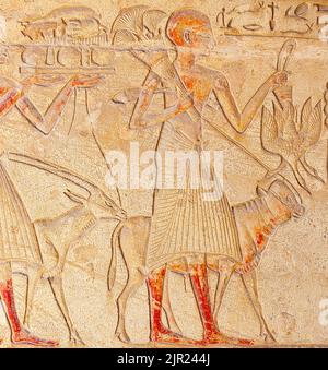
[[[93,189],[87,194],[78,194],[66,190],[65,195],[72,202],[83,205],[97,218],[126,219],[126,212],[116,202],[98,189]]]

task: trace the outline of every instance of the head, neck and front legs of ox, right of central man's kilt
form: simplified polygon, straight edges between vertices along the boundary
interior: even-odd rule
[[[268,192],[258,189],[258,198],[233,207],[243,255],[242,262],[223,256],[209,256],[211,270],[220,273],[213,313],[218,317],[222,298],[233,273],[241,276],[248,298],[260,322],[260,336],[274,341],[263,317],[259,301],[256,267],[269,238],[277,228],[292,217],[301,217],[304,207],[290,187],[280,180],[270,186]]]

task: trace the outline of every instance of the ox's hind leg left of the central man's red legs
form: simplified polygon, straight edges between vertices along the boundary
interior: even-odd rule
[[[126,310],[128,299],[133,296],[133,294],[139,289],[139,287],[144,282],[143,273],[138,268],[131,268],[129,271],[128,282],[117,298],[117,309],[118,309],[118,321],[115,330],[115,335],[125,343],[131,342],[127,330],[126,330]]]

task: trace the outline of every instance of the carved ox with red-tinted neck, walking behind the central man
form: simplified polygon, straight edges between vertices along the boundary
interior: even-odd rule
[[[208,267],[220,274],[213,313],[218,315],[230,278],[233,273],[236,273],[241,276],[246,293],[259,319],[260,335],[266,339],[270,338],[274,341],[263,318],[259,301],[256,267],[273,231],[293,216],[300,217],[303,215],[304,207],[285,182],[276,180],[270,186],[268,192],[258,189],[258,198],[237,204],[233,210],[237,223],[243,259],[242,261],[234,261],[224,255],[207,255]],[[117,299],[118,324],[116,335],[124,342],[130,341],[125,324],[127,300],[144,282],[147,274],[144,260],[150,223],[151,218],[149,217],[132,217],[118,224],[113,235],[114,250],[108,273],[109,291],[114,286],[116,275],[116,249],[120,249],[128,270],[127,284]],[[184,259],[181,259],[181,261],[174,261],[173,265],[180,266],[183,263],[185,263]],[[168,268],[175,271],[169,265]],[[179,271],[175,272],[181,273],[180,267]],[[185,272],[188,272],[188,266],[186,266]],[[171,308],[167,284],[164,288],[163,308],[166,312],[171,329],[180,332]]]

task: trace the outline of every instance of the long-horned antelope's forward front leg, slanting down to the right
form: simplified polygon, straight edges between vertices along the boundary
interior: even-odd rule
[[[50,286],[51,286],[55,299],[58,303],[58,307],[59,307],[59,309],[60,309],[60,311],[63,315],[63,319],[66,321],[66,324],[68,326],[70,342],[72,342],[73,344],[84,345],[84,342],[80,337],[80,334],[78,333],[78,331],[74,327],[74,324],[73,324],[73,322],[70,318],[69,309],[68,309],[67,303],[66,303],[65,291],[63,291],[63,288],[62,288],[61,276],[50,278],[49,282],[50,282]]]

